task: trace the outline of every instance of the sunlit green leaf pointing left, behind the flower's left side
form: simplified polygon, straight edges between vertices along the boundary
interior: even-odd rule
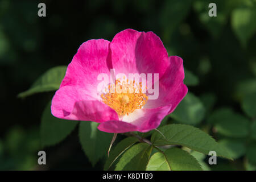
[[[60,83],[65,76],[66,69],[66,66],[59,66],[49,69],[34,82],[30,89],[19,93],[18,97],[27,97],[35,93],[48,92],[59,89]]]

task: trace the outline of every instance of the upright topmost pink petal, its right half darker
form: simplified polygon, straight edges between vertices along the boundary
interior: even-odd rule
[[[110,43],[115,73],[159,73],[170,64],[162,41],[153,32],[126,29],[114,36]]]

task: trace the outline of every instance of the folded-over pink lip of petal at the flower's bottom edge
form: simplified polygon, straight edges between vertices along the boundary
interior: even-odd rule
[[[100,123],[98,129],[107,133],[126,133],[138,130],[137,126],[123,121],[108,121]]]

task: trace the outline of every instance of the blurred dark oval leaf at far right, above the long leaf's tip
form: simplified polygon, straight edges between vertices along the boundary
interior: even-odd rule
[[[213,123],[217,132],[226,137],[242,138],[249,134],[250,121],[226,107],[214,111],[208,122]]]

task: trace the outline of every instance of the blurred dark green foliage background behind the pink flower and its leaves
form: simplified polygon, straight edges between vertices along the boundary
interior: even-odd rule
[[[46,17],[38,16],[40,2]],[[210,2],[217,17],[208,16]],[[153,31],[169,56],[183,58],[189,94],[167,122],[199,127],[234,158],[209,166],[195,154],[205,169],[255,170],[254,0],[0,0],[0,169],[102,169],[104,157],[92,166],[82,151],[77,127],[43,147],[41,117],[54,92],[17,96],[48,69],[68,65],[86,40],[111,41],[126,28]],[[46,166],[37,164],[39,150],[46,151]]]

